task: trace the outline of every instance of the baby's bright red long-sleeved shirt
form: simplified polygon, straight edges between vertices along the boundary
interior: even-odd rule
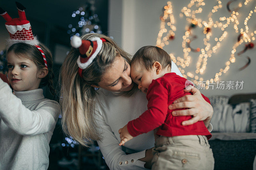
[[[186,80],[186,78],[182,78],[176,73],[167,73],[163,77],[153,80],[147,92],[148,110],[139,118],[128,122],[127,129],[129,133],[136,137],[162,125],[158,129],[157,135],[166,137],[204,135],[207,139],[210,139],[212,134],[205,127],[203,121],[183,126],[181,122],[191,119],[192,116],[172,116],[174,110],[168,109],[168,106],[174,100],[188,94],[191,95],[190,92],[184,92]],[[210,103],[207,97],[203,94],[202,96]]]

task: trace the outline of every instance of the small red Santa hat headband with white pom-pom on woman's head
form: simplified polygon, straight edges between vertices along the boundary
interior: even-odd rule
[[[87,68],[94,58],[99,54],[102,48],[102,42],[105,42],[104,38],[93,37],[89,40],[82,40],[80,37],[74,35],[71,39],[71,45],[74,48],[79,49],[79,57],[77,59],[78,74],[82,77],[82,71]]]

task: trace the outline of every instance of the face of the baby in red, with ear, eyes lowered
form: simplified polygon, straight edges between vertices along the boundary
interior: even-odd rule
[[[133,63],[131,65],[131,78],[134,83],[138,85],[138,88],[147,94],[148,86],[152,83],[152,80],[159,78],[154,69],[148,71],[145,66],[140,63]]]

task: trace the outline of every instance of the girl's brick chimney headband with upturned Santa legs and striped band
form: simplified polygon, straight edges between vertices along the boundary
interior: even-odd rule
[[[44,65],[47,68],[47,62],[42,48],[40,48],[39,41],[34,37],[30,22],[27,20],[25,15],[25,7],[16,2],[18,9],[19,18],[11,18],[10,15],[0,8],[0,15],[6,20],[5,26],[9,32],[10,39],[7,40],[7,48],[12,44],[23,42],[30,45],[36,46],[36,48],[41,52],[44,58]]]

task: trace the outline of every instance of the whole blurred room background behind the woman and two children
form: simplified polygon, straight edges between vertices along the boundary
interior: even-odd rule
[[[73,35],[103,33],[125,51],[154,45],[170,54],[185,78],[210,98],[215,169],[252,169],[256,154],[255,0],[20,0],[33,33],[53,54],[55,86]],[[18,17],[15,1],[0,6]],[[6,73],[0,18],[0,72]],[[44,89],[46,98],[58,100]],[[61,119],[61,115],[60,115]],[[97,144],[82,148],[63,135],[50,143],[49,169],[108,169]]]

